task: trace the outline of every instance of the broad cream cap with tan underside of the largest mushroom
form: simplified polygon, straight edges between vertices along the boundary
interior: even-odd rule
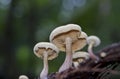
[[[81,27],[76,24],[68,24],[65,26],[60,26],[55,28],[50,34],[50,42],[55,44],[59,50],[65,51],[65,39],[69,37],[72,39],[72,50],[80,50],[83,48],[81,40],[85,38],[80,38]]]

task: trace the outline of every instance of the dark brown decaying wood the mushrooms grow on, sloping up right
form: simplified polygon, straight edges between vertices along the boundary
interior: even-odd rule
[[[52,73],[48,79],[109,79],[107,75],[119,74],[116,67],[120,65],[120,43],[115,43],[98,51],[100,61],[92,59],[79,65],[71,67],[61,73]]]

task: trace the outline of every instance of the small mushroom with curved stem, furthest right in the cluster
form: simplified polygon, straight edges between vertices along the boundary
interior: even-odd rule
[[[87,38],[87,43],[88,43],[88,53],[90,54],[90,57],[93,60],[98,61],[99,57],[93,53],[92,48],[97,47],[101,43],[100,39],[97,36],[89,36]]]

